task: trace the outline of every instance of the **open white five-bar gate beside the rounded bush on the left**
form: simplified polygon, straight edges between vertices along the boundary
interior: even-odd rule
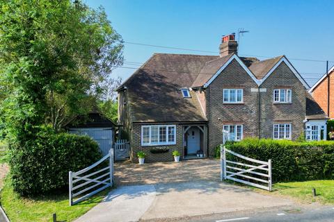
[[[88,171],[97,168],[102,162],[109,158],[109,166],[104,167],[102,169],[98,169],[92,173],[88,173]],[[86,173],[82,176],[83,173]],[[88,173],[88,174],[87,174]],[[99,176],[95,176],[99,173]],[[110,149],[109,153],[102,157],[101,160],[95,162],[95,164],[90,165],[90,167],[86,167],[85,169],[81,169],[81,171],[69,173],[69,194],[70,194],[70,206],[85,200],[86,198],[97,194],[98,192],[106,189],[107,187],[113,186],[113,149]],[[95,178],[91,178],[95,176]],[[94,183],[90,187],[90,183]],[[76,186],[74,184],[77,183]],[[79,183],[79,185],[78,185]],[[97,187],[99,187],[96,189]],[[101,187],[102,186],[102,187]],[[81,190],[79,191],[79,188]],[[95,188],[94,191],[92,189]],[[74,193],[74,191],[76,193]],[[87,192],[90,191],[88,194]],[[73,198],[77,198],[73,200]]]

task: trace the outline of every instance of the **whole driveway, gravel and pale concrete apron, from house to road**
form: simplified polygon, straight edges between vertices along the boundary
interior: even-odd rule
[[[117,163],[117,189],[81,221],[157,221],[292,205],[219,180],[218,160]]]

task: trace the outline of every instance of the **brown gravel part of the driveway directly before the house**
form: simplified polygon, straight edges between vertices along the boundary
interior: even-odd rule
[[[116,185],[154,185],[157,183],[220,180],[220,161],[216,159],[184,160],[133,164],[116,162]]]

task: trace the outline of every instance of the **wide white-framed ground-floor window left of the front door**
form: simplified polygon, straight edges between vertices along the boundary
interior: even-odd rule
[[[175,125],[141,126],[141,146],[175,145]]]

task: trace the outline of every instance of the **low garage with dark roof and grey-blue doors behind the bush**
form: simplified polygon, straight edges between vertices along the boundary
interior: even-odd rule
[[[106,155],[113,145],[117,125],[100,112],[90,112],[74,117],[65,128],[69,133],[88,135],[99,144],[102,155]]]

